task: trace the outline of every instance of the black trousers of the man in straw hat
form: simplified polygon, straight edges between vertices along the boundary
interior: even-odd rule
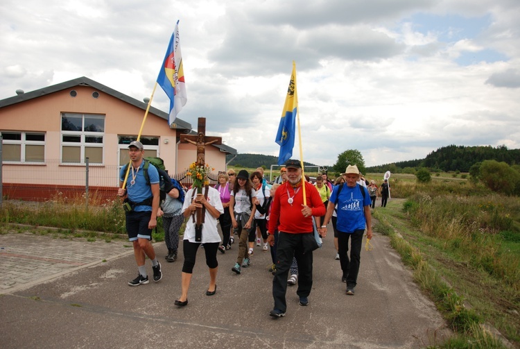
[[[356,287],[357,284],[364,233],[364,229],[356,230],[355,232],[338,232],[338,253],[340,255],[343,278],[347,279],[347,287]],[[349,239],[351,239],[350,258],[348,256]]]

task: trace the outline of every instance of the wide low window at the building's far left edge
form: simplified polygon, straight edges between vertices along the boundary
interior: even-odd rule
[[[3,162],[44,162],[45,133],[2,131]]]

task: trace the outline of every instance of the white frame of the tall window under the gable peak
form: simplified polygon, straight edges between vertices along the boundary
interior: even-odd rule
[[[63,114],[74,114],[81,117],[81,131],[70,131],[62,130],[62,117]],[[85,130],[85,116],[96,116],[103,117],[103,132],[87,132]],[[89,166],[104,166],[105,165],[105,127],[106,127],[106,115],[105,114],[88,114],[88,113],[74,113],[74,112],[62,112],[60,114],[60,164],[62,165],[84,165],[85,164],[85,148],[101,148],[101,162],[89,161]],[[80,142],[64,142],[64,136],[76,136],[80,137]],[[101,143],[87,143],[85,142],[86,137],[102,137],[103,142]],[[80,148],[80,161],[79,162],[63,162],[63,147],[73,146]]]

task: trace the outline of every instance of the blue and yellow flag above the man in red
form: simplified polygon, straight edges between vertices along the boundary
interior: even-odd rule
[[[295,139],[296,113],[298,110],[298,94],[296,92],[296,64],[293,62],[293,74],[287,90],[284,110],[281,112],[280,124],[276,135],[277,144],[280,146],[278,164],[282,165],[293,156]]]

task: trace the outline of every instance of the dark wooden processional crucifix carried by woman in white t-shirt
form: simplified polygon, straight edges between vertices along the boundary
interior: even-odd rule
[[[181,135],[180,142],[188,142],[197,146],[197,167],[205,167],[205,147],[209,144],[222,144],[220,137],[206,137],[206,118],[198,118],[198,133],[197,135]],[[207,198],[207,185],[205,186],[205,197]],[[194,191],[195,192],[195,191]],[[197,189],[197,194],[202,194],[202,187]],[[192,198],[195,200],[195,198]],[[205,207],[197,207],[196,210],[196,221],[195,221],[195,241],[202,241],[202,224],[205,218]],[[193,216],[195,220],[195,216]]]

